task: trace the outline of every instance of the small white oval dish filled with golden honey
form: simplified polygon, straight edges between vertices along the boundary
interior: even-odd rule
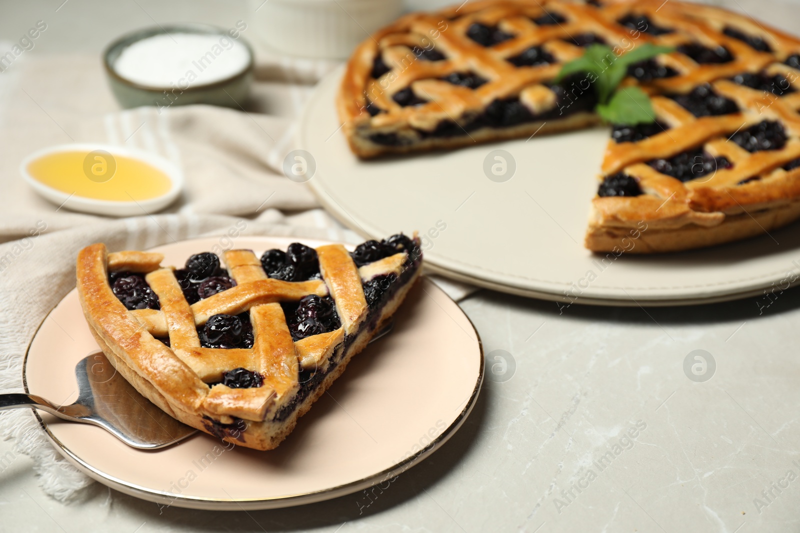
[[[55,205],[106,217],[156,213],[183,189],[178,166],[115,145],[52,146],[31,153],[19,169],[28,185]]]

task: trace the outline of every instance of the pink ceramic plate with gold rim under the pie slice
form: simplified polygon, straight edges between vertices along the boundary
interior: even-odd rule
[[[240,237],[234,247],[260,254],[296,240]],[[155,250],[166,255],[164,265],[179,266],[192,253],[218,247],[218,239],[199,239]],[[30,344],[26,391],[73,402],[75,364],[97,348],[72,291]],[[276,450],[234,447],[201,433],[163,450],[142,451],[94,426],[44,413],[41,420],[66,459],[126,494],[198,509],[289,507],[382,483],[430,455],[469,415],[482,376],[478,333],[453,300],[422,278],[390,335],[354,357]]]

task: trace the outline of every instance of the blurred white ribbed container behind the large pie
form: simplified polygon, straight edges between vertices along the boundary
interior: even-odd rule
[[[306,58],[346,59],[402,13],[403,0],[252,0],[254,38]],[[260,6],[260,7],[259,7]]]

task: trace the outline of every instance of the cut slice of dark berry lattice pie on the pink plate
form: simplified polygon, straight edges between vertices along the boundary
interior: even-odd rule
[[[421,272],[417,237],[312,249],[78,253],[78,295],[114,367],[170,416],[233,444],[277,447]],[[223,266],[224,265],[224,266]]]

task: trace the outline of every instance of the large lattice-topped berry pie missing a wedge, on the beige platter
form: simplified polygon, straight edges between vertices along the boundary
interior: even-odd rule
[[[595,81],[559,74],[598,44],[609,64],[668,50],[621,71],[655,120],[610,125],[588,249],[692,249],[800,217],[800,39],[712,6],[484,0],[406,15],[350,58],[342,130],[370,158],[595,125]]]

